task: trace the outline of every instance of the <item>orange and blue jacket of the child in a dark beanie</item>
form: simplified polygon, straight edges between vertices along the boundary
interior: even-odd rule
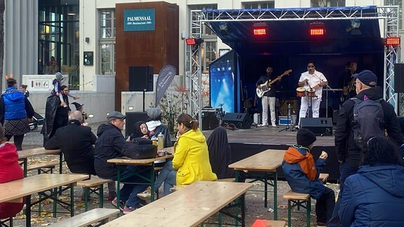
[[[316,177],[314,181],[309,180],[307,175],[303,172],[302,168],[299,165],[299,162],[303,161],[306,156],[307,149],[293,146],[301,156],[294,156],[291,155],[288,151],[285,152],[285,158],[283,158],[282,162],[282,170],[283,170],[283,175],[285,176],[286,180],[288,181],[288,184],[292,191],[295,193],[307,193],[310,194],[310,196],[314,199],[320,198],[321,195],[323,195],[325,191],[325,186],[321,181],[318,179],[320,176],[320,171],[323,169],[325,166],[325,159],[323,158],[318,158],[316,161]],[[292,147],[292,148],[293,148]],[[291,148],[291,149],[292,149]],[[310,156],[310,158],[313,158],[313,156]],[[286,160],[289,160],[288,162]],[[313,162],[314,163],[314,160]],[[313,169],[314,166],[309,167],[309,169]]]

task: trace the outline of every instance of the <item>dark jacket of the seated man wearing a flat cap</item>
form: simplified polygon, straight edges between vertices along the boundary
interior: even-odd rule
[[[122,157],[123,145],[126,141],[121,130],[115,125],[105,123],[97,129],[97,141],[95,142],[94,167],[98,177],[113,179],[116,177],[116,166],[107,163],[108,159]]]

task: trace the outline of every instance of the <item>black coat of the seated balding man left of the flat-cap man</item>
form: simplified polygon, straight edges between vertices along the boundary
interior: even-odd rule
[[[45,149],[60,149],[71,172],[95,175],[93,145],[96,140],[90,127],[73,120],[56,130]]]

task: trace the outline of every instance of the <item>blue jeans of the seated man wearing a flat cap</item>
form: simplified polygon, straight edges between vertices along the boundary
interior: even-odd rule
[[[121,178],[125,177],[126,174],[133,174],[133,172],[139,172],[140,170],[145,170],[146,166],[135,166],[135,165],[127,165],[126,169],[121,172]],[[149,178],[149,173],[147,171],[142,172],[142,177]],[[119,195],[119,200],[126,202],[126,207],[136,208],[140,202],[140,198],[137,198],[137,193],[141,193],[147,188],[146,184],[148,184],[146,179],[143,179],[139,176],[131,176],[126,179],[121,180],[123,183],[123,187],[121,188],[121,192]],[[113,180],[116,181],[117,177],[112,177]],[[136,184],[130,184],[136,183]]]

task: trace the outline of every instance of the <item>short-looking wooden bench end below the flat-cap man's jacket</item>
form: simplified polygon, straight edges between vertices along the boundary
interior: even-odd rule
[[[113,182],[112,179],[101,179],[99,177],[91,177],[90,179],[77,182],[77,186],[82,186],[84,189],[84,209],[88,210],[88,197],[95,193],[100,201],[100,208],[104,207],[104,187],[103,184]]]

